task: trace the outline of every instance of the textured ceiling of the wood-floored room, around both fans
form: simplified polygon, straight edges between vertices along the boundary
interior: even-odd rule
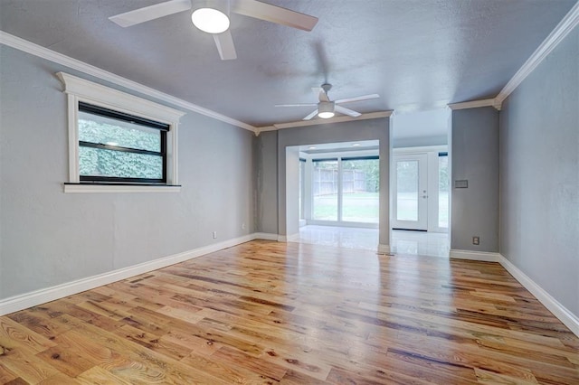
[[[330,82],[360,112],[494,97],[575,0],[267,0],[319,18],[312,32],[233,14],[221,61],[191,12],[129,28],[114,14],[159,0],[0,0],[0,29],[256,127],[296,121]],[[1,58],[0,58],[1,59]]]

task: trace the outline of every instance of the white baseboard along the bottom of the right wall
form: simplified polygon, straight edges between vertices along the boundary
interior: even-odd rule
[[[579,337],[579,317],[567,310],[564,305],[561,305],[553,296],[548,294],[543,287],[538,286],[533,279],[513,265],[513,263],[507,258],[500,254],[498,257],[498,263],[500,263],[502,267],[511,274],[511,276],[515,277],[515,279],[517,279],[521,285],[525,286],[525,288],[535,296],[541,304],[545,305],[545,307],[549,309],[549,311],[553,313],[559,321],[565,324],[565,326]]]

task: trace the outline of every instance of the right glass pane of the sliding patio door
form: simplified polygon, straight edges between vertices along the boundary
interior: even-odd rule
[[[342,161],[342,221],[378,223],[378,162]]]

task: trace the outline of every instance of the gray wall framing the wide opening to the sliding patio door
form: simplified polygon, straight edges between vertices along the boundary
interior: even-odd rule
[[[380,244],[389,245],[390,221],[390,118],[330,123],[316,127],[294,127],[278,131],[278,230],[281,235],[291,235],[286,230],[286,147],[320,145],[325,143],[351,142],[360,140],[380,141]],[[261,134],[263,135],[263,134]],[[275,150],[266,149],[268,153]],[[268,200],[272,200],[268,197]],[[271,221],[268,220],[268,221]]]

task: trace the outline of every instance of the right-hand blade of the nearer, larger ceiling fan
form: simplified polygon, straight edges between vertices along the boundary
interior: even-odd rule
[[[300,14],[277,5],[261,3],[257,0],[233,0],[232,12],[304,31],[311,31],[318,23],[318,17]]]

